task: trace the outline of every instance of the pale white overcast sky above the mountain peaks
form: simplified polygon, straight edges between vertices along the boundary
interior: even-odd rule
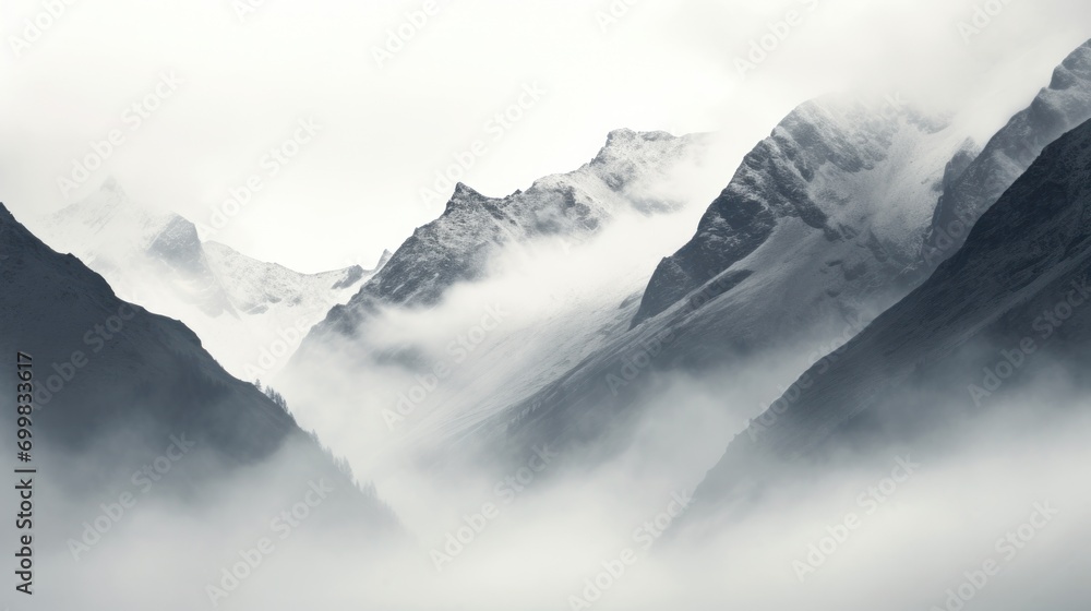
[[[419,191],[476,139],[490,146],[464,181],[488,195],[577,168],[623,127],[718,132],[734,155],[726,184],[784,113],[826,92],[935,99],[987,136],[1091,38],[1084,0],[992,0],[1003,11],[969,45],[958,24],[980,0],[630,0],[606,31],[598,13],[622,0],[437,0],[380,69],[373,49],[423,1],[253,0],[244,20],[232,0],[69,1],[16,58],[12,37],[45,4],[0,0],[4,203],[56,211],[112,175],[140,202],[208,221],[314,117],[317,136],[216,237],[308,272],[370,264],[437,216]],[[790,10],[802,24],[741,80],[734,58]],[[132,130],[125,108],[164,72],[183,82]],[[488,119],[533,83],[541,100],[492,142]],[[58,176],[112,129],[124,143],[62,196]]]

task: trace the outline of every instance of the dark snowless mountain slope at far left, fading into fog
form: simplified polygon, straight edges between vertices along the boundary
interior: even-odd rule
[[[13,362],[16,351],[33,359],[35,463],[59,487],[55,503],[72,503],[45,512],[41,532],[50,534],[51,544],[63,547],[65,537],[77,536],[80,520],[95,516],[104,499],[131,489],[133,471],[171,443],[176,468],[155,464],[179,475],[161,478],[160,487],[187,498],[212,502],[219,483],[245,479],[243,472],[257,477],[262,465],[290,456],[300,468],[281,471],[272,488],[251,482],[255,503],[327,478],[340,491],[331,516],[364,531],[397,530],[373,493],[358,489],[284,409],[224,371],[193,332],[122,301],[101,276],[50,250],[2,206],[0,278],[0,348]],[[13,366],[3,374],[11,388],[14,372]],[[14,414],[14,398],[0,399],[5,411]],[[256,515],[273,508],[261,506]]]

